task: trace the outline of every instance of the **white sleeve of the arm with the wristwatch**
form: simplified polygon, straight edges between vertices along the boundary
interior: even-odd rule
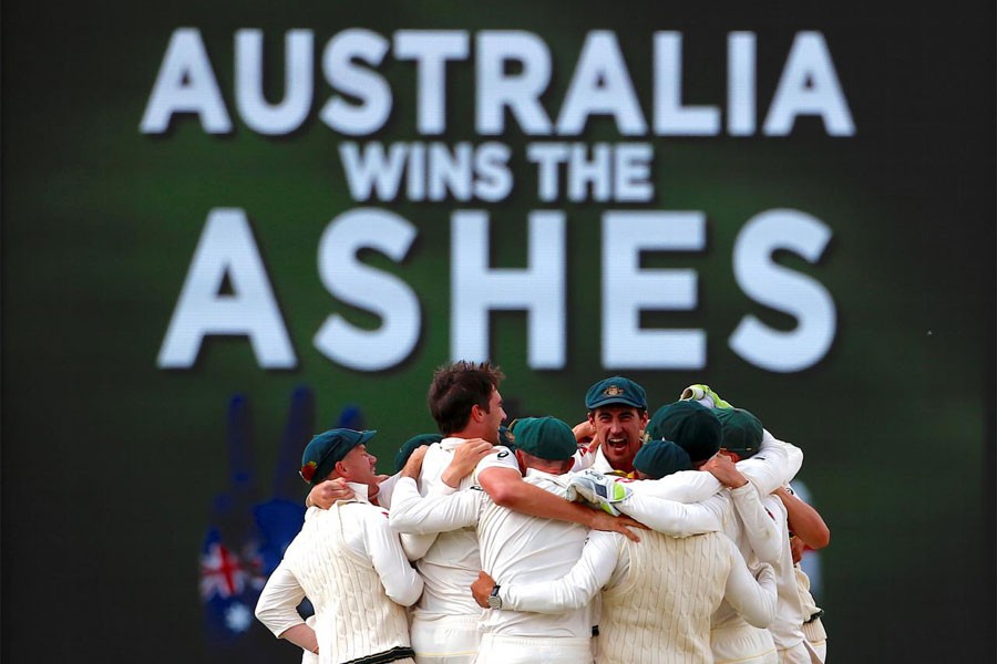
[[[561,579],[541,583],[502,585],[502,608],[535,613],[564,613],[588,604],[609,583],[619,557],[623,536],[594,530],[589,533],[582,558]]]

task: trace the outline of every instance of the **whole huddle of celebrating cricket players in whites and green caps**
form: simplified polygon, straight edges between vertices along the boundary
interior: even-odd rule
[[[438,370],[441,435],[410,439],[387,479],[374,432],[308,444],[311,507],[256,609],[305,664],[825,661],[799,560],[830,532],[789,487],[800,448],[706,385],[649,416],[621,376],[574,428],[505,427],[503,378]]]

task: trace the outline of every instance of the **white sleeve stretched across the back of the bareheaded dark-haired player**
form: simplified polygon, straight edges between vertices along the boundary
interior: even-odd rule
[[[483,491],[476,489],[451,495],[431,491],[420,496],[415,480],[402,477],[391,497],[389,523],[394,530],[409,535],[434,535],[474,526],[483,496]]]

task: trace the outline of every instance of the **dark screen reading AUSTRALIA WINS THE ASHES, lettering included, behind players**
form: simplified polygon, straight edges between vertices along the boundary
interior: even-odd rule
[[[4,0],[2,658],[298,661],[305,443],[389,473],[491,359],[708,383],[805,453],[832,662],[993,661],[995,7],[723,4]]]

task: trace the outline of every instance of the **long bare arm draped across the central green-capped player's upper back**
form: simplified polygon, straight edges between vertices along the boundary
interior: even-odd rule
[[[477,473],[477,481],[496,505],[532,517],[571,521],[593,530],[619,532],[635,542],[640,541],[640,538],[630,528],[647,529],[646,526],[629,517],[611,517],[602,510],[592,509],[578,502],[569,502],[525,483],[520,471],[512,468],[491,466],[481,469]]]

